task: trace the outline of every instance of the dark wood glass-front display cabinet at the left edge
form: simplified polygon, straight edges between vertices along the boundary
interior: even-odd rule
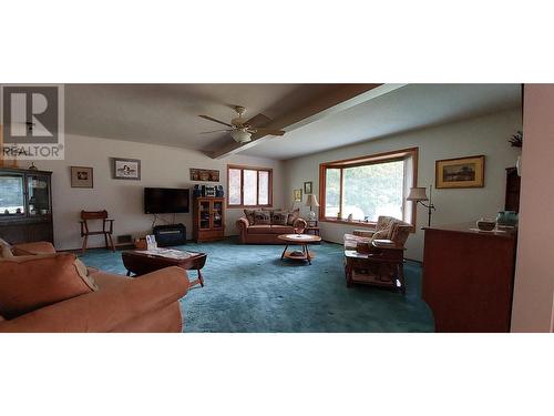
[[[0,236],[6,241],[54,242],[52,172],[0,168]]]

